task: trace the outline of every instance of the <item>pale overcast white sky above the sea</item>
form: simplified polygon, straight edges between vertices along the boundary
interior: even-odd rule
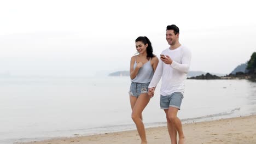
[[[168,48],[167,25],[192,52],[190,70],[229,74],[256,52],[253,1],[0,1],[0,75],[102,76],[129,70],[135,39]]]

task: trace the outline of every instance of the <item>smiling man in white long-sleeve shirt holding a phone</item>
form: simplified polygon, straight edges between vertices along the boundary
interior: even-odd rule
[[[179,28],[176,25],[166,27],[166,40],[170,47],[162,51],[161,61],[155,70],[148,88],[148,94],[153,97],[155,87],[162,77],[160,89],[160,106],[167,118],[168,133],[172,144],[184,144],[184,134],[181,120],[177,117],[184,95],[184,81],[190,67],[191,52],[179,43]]]

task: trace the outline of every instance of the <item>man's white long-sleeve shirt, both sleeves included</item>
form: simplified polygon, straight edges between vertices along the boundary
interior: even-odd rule
[[[184,81],[187,79],[191,62],[190,50],[181,45],[174,50],[165,49],[161,54],[168,55],[172,59],[172,64],[159,61],[148,87],[156,87],[162,77],[161,95],[171,95],[174,92],[181,92],[184,95]]]

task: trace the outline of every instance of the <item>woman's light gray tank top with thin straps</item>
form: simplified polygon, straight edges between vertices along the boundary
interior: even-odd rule
[[[136,59],[137,59],[137,56],[133,64],[133,69],[135,69],[137,65]],[[136,77],[131,81],[138,82],[138,83],[148,83],[152,80],[153,75],[154,75],[153,67],[151,66],[150,60],[149,60],[147,63],[143,64],[143,66],[139,69]]]

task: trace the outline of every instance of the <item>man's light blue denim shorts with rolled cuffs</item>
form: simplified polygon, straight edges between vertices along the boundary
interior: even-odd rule
[[[169,109],[169,107],[176,107],[180,110],[183,94],[181,92],[174,92],[171,95],[163,96],[160,98],[161,109]]]

